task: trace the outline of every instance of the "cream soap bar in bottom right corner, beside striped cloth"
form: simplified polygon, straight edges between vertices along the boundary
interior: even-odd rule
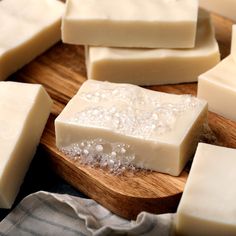
[[[236,235],[236,150],[200,143],[176,217],[176,235]]]

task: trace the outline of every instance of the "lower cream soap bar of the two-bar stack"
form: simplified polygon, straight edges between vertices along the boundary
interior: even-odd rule
[[[220,61],[209,14],[201,10],[193,49],[125,49],[88,47],[89,79],[137,85],[175,84],[197,77]]]

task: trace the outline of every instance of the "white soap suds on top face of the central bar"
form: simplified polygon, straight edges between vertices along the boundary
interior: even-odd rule
[[[181,101],[162,103],[160,97],[149,99],[140,94],[135,96],[135,88],[125,90],[122,86],[114,91],[109,88],[100,89],[100,93],[83,93],[85,100],[94,102],[94,106],[76,113],[69,122],[84,126],[107,128],[116,133],[132,135],[148,139],[154,134],[163,135],[170,132],[176,120],[184,112],[196,108],[198,100],[191,95],[182,95]],[[89,95],[89,96],[88,96]],[[103,96],[101,96],[103,95]],[[122,108],[100,106],[113,95],[113,100],[125,101]],[[147,107],[152,104],[152,108]]]

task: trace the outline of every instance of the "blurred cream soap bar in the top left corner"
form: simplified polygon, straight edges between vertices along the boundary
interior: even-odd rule
[[[63,12],[57,0],[0,1],[0,80],[60,40]]]

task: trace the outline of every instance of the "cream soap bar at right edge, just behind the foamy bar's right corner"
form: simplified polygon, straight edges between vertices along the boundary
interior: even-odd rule
[[[199,76],[199,98],[207,100],[209,110],[236,121],[236,63],[228,56],[213,69]]]

